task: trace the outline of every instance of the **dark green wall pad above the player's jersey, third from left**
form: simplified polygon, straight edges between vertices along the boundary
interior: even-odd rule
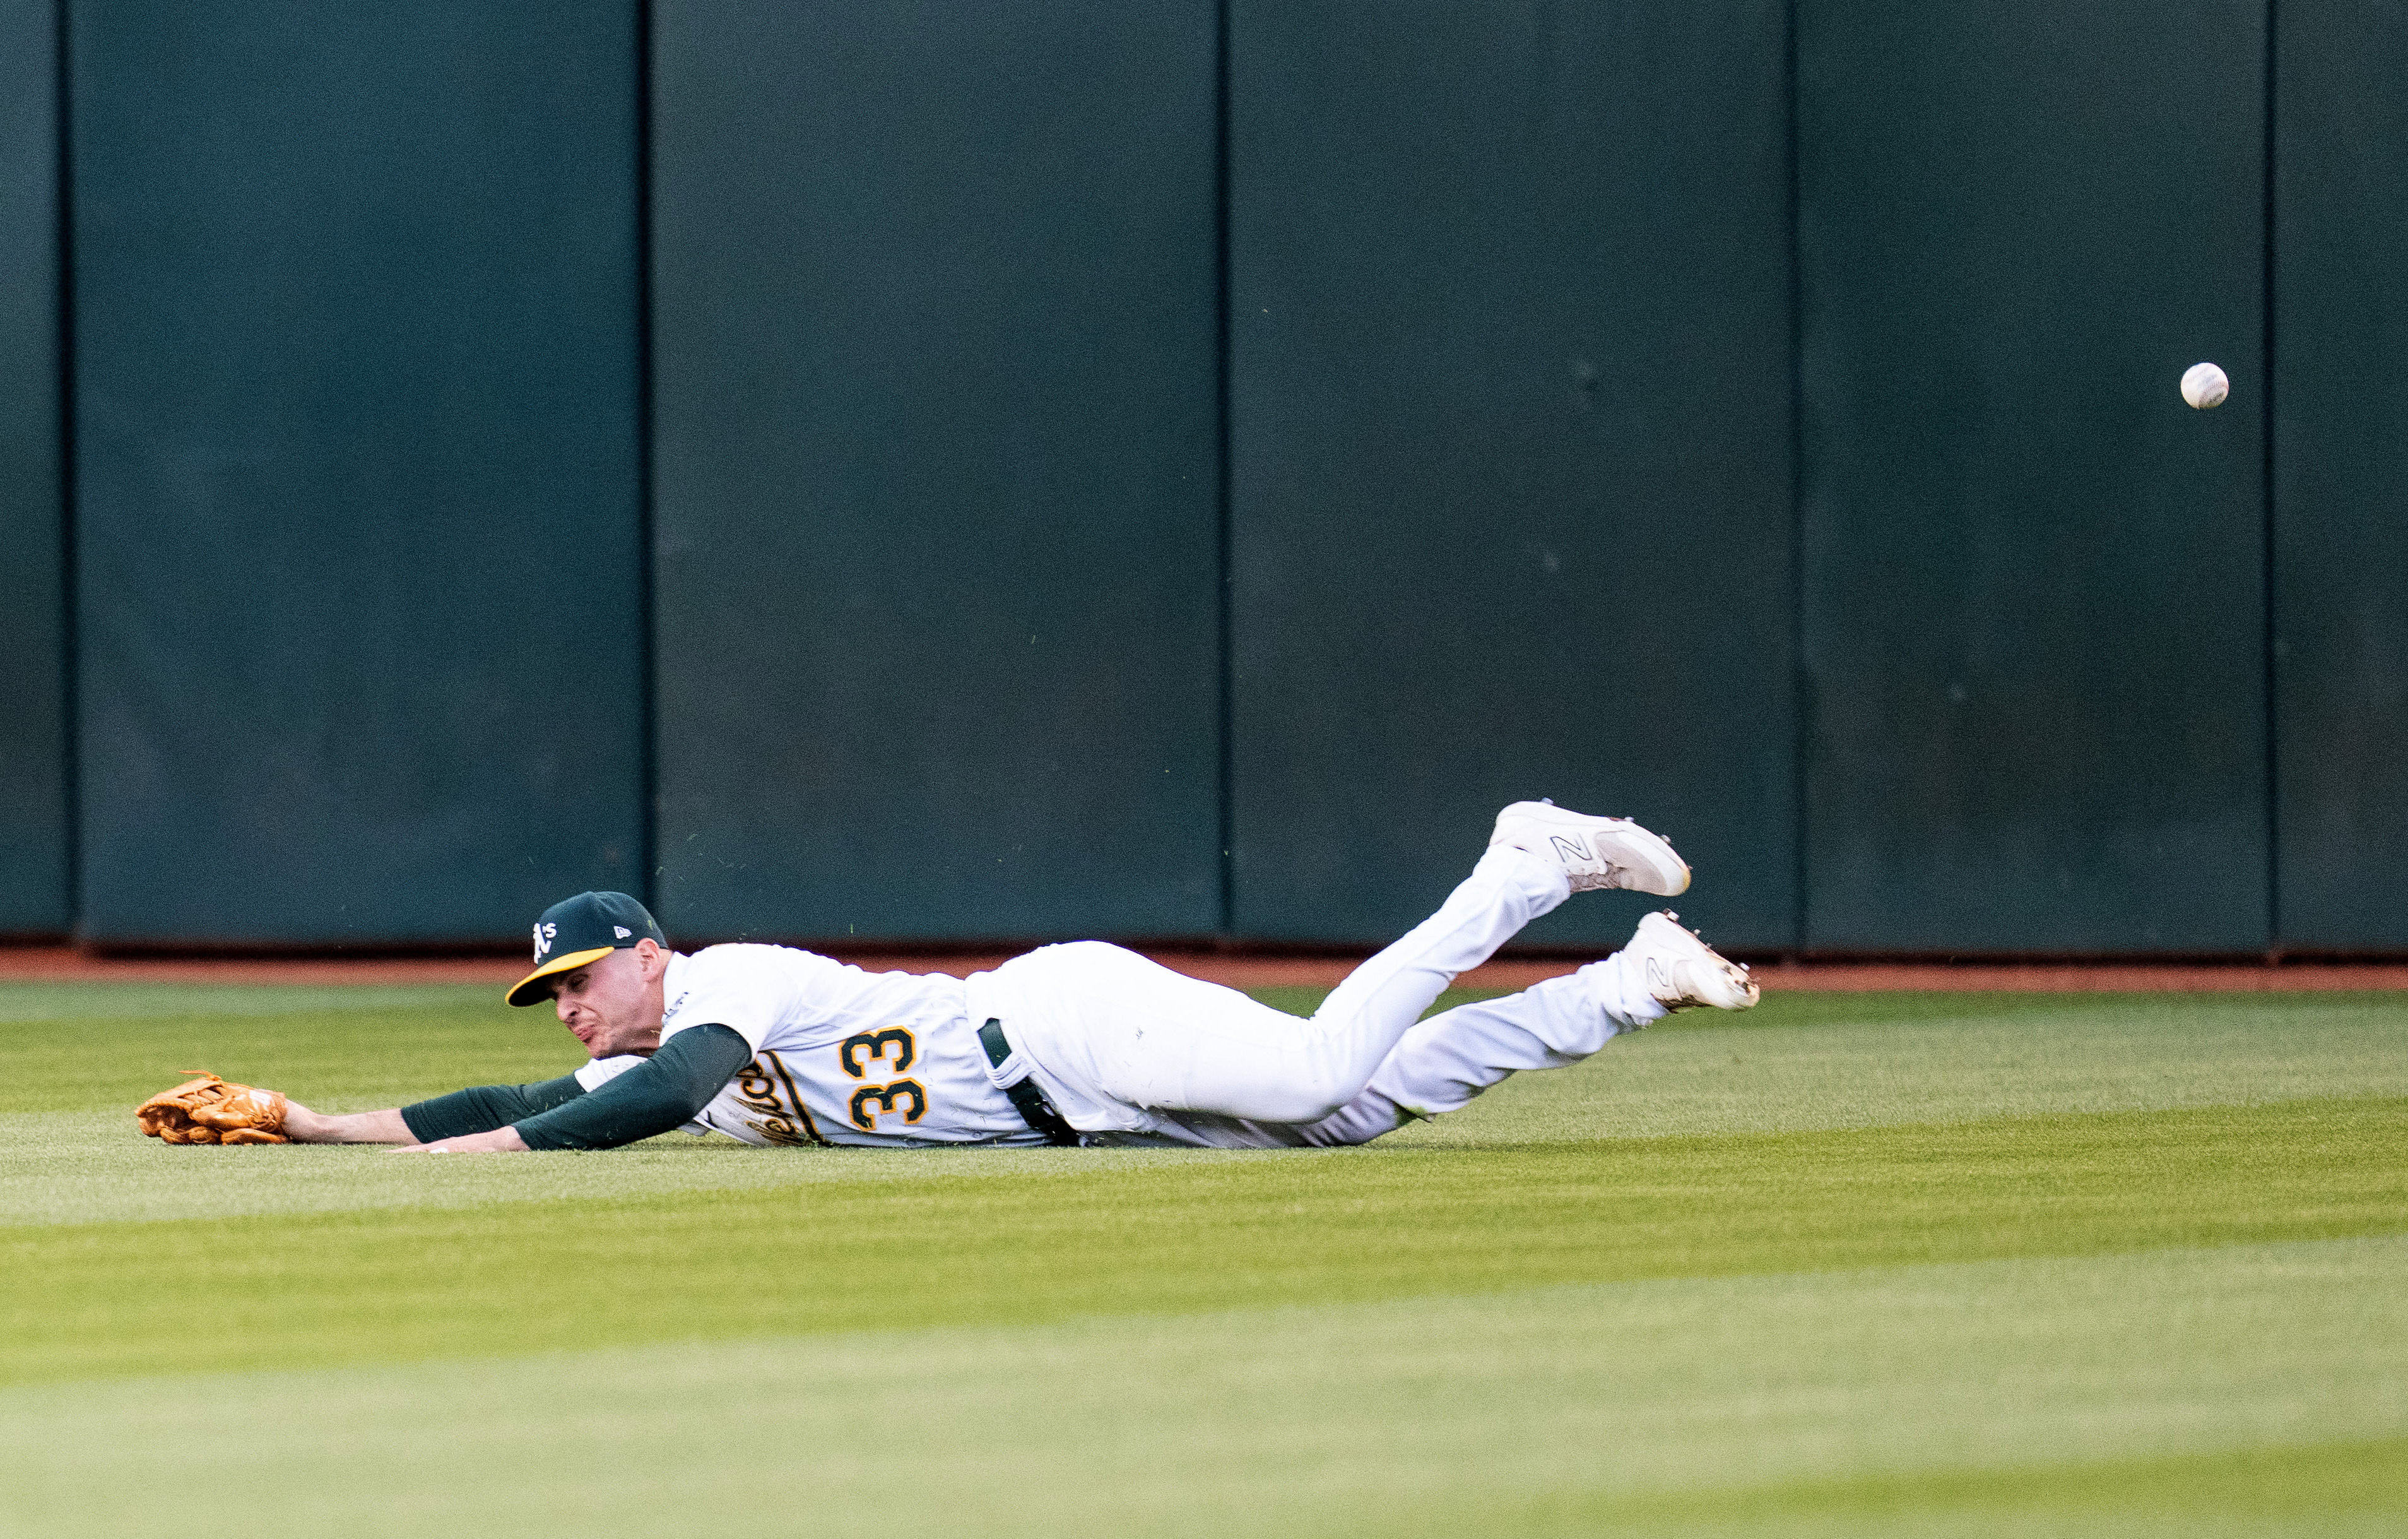
[[[1214,5],[653,41],[669,934],[1211,932]]]

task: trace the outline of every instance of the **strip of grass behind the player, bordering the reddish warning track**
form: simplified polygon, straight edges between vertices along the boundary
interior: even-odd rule
[[[414,1007],[402,990],[354,990],[349,1004],[335,990],[284,992],[291,1009],[275,1009],[275,990],[190,990],[183,1014],[111,1016],[75,1014],[111,1007],[108,990],[0,987],[0,1118],[130,1118],[183,1067],[318,1110],[366,1110],[580,1062],[542,1012],[479,992],[424,990]],[[1315,990],[1259,995],[1298,1012],[1320,1002]],[[1404,1137],[1479,1142],[1505,1125],[1519,1139],[1777,1132],[2309,1096],[2408,1096],[2408,1000],[1775,995],[1736,1016],[1676,1016],[1570,1074],[1522,1074]]]

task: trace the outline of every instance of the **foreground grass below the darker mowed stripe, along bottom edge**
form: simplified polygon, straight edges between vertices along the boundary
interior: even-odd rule
[[[2379,1238],[19,1387],[0,1522],[193,1472],[364,1537],[2398,1517],[2403,1284]]]

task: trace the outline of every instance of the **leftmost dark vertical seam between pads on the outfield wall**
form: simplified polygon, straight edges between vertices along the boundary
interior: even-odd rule
[[[65,860],[67,932],[84,930],[84,727],[82,727],[82,670],[77,561],[75,561],[75,111],[72,111],[72,58],[67,53],[70,0],[53,7],[53,58],[51,58],[51,137],[55,154],[55,183],[51,200],[55,207],[53,231],[53,344],[58,349],[58,776],[60,776],[60,855]]]

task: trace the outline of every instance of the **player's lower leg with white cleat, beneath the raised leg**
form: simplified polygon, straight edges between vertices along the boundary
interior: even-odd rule
[[[1361,1096],[1296,1130],[1300,1137],[1293,1142],[1368,1144],[1418,1118],[1459,1110],[1522,1069],[1570,1067],[1674,1009],[1751,1004],[1755,983],[1746,968],[1724,961],[1676,915],[1649,913],[1630,944],[1604,961],[1421,1021]]]

